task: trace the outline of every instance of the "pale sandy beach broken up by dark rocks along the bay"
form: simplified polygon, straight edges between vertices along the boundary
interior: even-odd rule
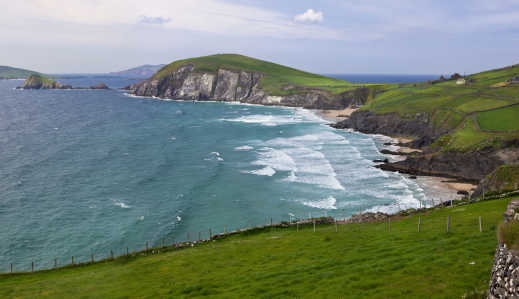
[[[358,109],[346,108],[342,110],[310,110],[326,121],[340,122],[344,119],[347,119],[353,112],[357,111]],[[368,135],[376,136],[373,134]],[[384,136],[384,138],[388,138],[390,140],[390,142],[384,143],[383,149],[389,149],[403,154],[423,152],[420,149],[402,146],[402,144],[407,144],[413,141],[413,138],[409,136],[380,136]],[[385,156],[390,159],[395,159],[395,156],[393,155]],[[406,159],[406,156],[402,155],[401,158]],[[406,175],[406,177],[411,178],[413,176]],[[469,194],[472,194],[473,190],[475,190],[477,187],[477,185],[474,184],[459,182],[456,179],[440,176],[416,176],[416,179],[414,180],[420,186],[420,188],[424,190],[424,193],[426,193],[428,198],[431,197],[433,200],[439,199],[442,203],[450,200],[460,199],[460,197],[464,196],[462,194],[458,194],[458,192],[468,192]]]

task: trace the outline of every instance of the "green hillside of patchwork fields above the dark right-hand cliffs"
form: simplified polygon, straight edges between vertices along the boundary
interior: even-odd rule
[[[519,138],[519,65],[456,80],[386,86],[363,109],[396,112],[404,118],[426,113],[438,128],[448,130],[437,146],[472,150]]]

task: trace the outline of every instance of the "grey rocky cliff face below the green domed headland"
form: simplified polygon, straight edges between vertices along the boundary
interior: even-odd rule
[[[334,95],[319,89],[299,89],[289,95],[269,95],[260,87],[259,72],[219,69],[216,74],[198,72],[192,64],[184,65],[161,78],[127,87],[138,96],[154,96],[191,101],[237,101],[261,105],[280,105],[314,109],[337,109],[366,102],[369,90],[359,88]]]

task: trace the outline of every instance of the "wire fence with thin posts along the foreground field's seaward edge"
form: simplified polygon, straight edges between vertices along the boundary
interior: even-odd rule
[[[452,203],[451,203],[452,205]],[[436,206],[434,209],[446,208],[447,205]],[[430,210],[422,208],[416,210],[417,212],[426,212]],[[456,217],[447,215],[445,217],[428,216],[426,214],[417,215],[417,217],[405,218],[401,215],[386,215],[384,219],[377,219],[369,221],[370,225],[366,226],[366,223],[348,223],[348,218],[344,216],[344,212],[340,215],[340,212],[334,213],[335,217],[329,216],[327,212],[323,213],[321,217],[312,217],[309,215],[308,218],[296,217],[295,215],[289,215],[287,220],[275,222],[272,217],[267,217],[265,223],[261,225],[251,225],[250,223],[246,226],[223,226],[220,229],[209,228],[207,231],[198,231],[195,233],[186,232],[183,238],[163,238],[152,245],[149,241],[143,242],[138,248],[131,249],[129,247],[119,248],[118,250],[112,250],[100,253],[92,252],[90,255],[77,255],[70,256],[69,258],[54,258],[50,261],[44,261],[43,259],[34,259],[29,264],[26,263],[25,267],[17,269],[13,263],[9,264],[7,272],[4,273],[27,273],[35,272],[40,270],[50,270],[55,268],[65,267],[76,267],[88,264],[94,264],[98,262],[111,261],[117,258],[131,258],[136,256],[146,256],[150,254],[157,254],[160,252],[166,252],[171,250],[178,250],[187,247],[194,247],[198,244],[206,242],[216,241],[232,235],[237,234],[250,234],[257,232],[296,232],[296,233],[323,233],[323,232],[335,232],[335,233],[370,233],[380,234],[382,232],[387,234],[424,234],[424,233],[457,233],[467,231],[478,231],[483,232],[489,230],[487,224],[481,216],[462,216]],[[341,217],[342,216],[342,217]],[[358,216],[358,215],[357,215]],[[398,221],[396,221],[398,220]],[[40,266],[44,265],[44,266]]]

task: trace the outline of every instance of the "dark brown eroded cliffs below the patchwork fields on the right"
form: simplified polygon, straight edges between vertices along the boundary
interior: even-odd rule
[[[338,129],[353,129],[366,134],[388,136],[412,136],[405,144],[423,150],[407,155],[403,161],[384,163],[376,167],[412,175],[430,175],[453,178],[479,184],[488,174],[504,164],[519,159],[519,142],[504,142],[499,146],[487,146],[471,151],[442,150],[433,143],[448,134],[438,128],[426,114],[402,118],[397,113],[377,114],[368,110],[354,112],[349,119],[332,125]]]

